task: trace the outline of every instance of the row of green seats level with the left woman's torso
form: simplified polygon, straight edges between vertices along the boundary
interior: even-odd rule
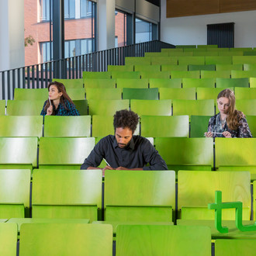
[[[143,89],[141,89],[143,90]],[[171,89],[169,89],[171,90]],[[163,92],[168,90],[163,90]],[[191,92],[187,90],[186,92]],[[185,92],[185,91],[184,91]],[[172,92],[174,93],[174,92]],[[177,92],[180,95],[182,92]],[[132,97],[136,95],[133,92]],[[143,95],[145,96],[145,95]],[[157,93],[158,97],[158,93]],[[77,106],[81,116],[98,115],[98,116],[113,116],[116,111],[121,109],[131,109],[137,112],[139,116],[213,116],[215,112],[214,99],[120,99],[120,100],[104,100],[104,99],[90,99],[81,100],[81,106]],[[40,116],[43,102],[41,101],[19,101],[9,100],[7,102],[6,114],[7,116]],[[256,99],[237,99],[237,109],[244,112],[247,116],[256,115]],[[2,111],[4,114],[5,110]]]

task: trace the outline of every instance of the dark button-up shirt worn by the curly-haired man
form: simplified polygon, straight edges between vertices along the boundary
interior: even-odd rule
[[[102,138],[85,159],[81,169],[87,169],[90,166],[98,167],[103,158],[112,168],[122,166],[129,169],[143,168],[144,170],[168,169],[163,158],[150,144],[150,141],[137,135],[133,135],[129,144],[124,148],[118,147],[113,135]],[[147,163],[150,166],[146,166]]]

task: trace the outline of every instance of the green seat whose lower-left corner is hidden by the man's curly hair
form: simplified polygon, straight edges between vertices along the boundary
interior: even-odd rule
[[[171,116],[171,99],[131,99],[130,109],[139,116]]]

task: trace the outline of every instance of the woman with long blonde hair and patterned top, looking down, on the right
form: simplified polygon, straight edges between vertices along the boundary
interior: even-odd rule
[[[235,95],[230,89],[221,91],[217,97],[219,113],[209,119],[206,137],[252,137],[244,113],[235,109]]]

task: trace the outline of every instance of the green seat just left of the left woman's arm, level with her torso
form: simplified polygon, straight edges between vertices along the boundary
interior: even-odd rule
[[[48,98],[48,96],[47,96]],[[8,100],[7,116],[40,116],[45,100]]]

